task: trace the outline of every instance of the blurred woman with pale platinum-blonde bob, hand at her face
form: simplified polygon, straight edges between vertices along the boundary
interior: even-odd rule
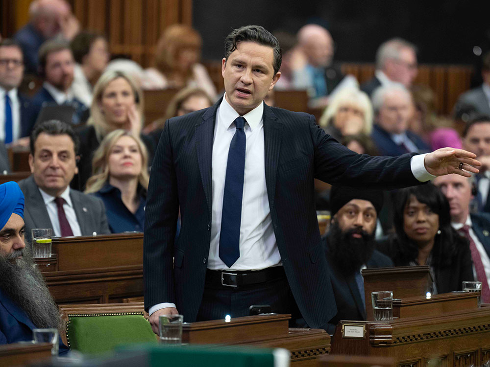
[[[348,135],[370,135],[373,111],[368,95],[355,88],[345,88],[334,95],[319,125],[333,138]]]

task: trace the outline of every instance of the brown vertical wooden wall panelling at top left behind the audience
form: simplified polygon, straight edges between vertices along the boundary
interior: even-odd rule
[[[105,34],[112,54],[150,66],[156,42],[174,23],[192,25],[192,0],[68,0],[83,29]],[[27,22],[30,0],[0,0],[0,33],[12,36]]]

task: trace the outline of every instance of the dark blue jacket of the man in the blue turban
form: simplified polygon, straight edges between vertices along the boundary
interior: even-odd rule
[[[0,289],[0,344],[31,341],[35,328],[22,308]],[[58,354],[65,355],[69,350],[60,337]]]

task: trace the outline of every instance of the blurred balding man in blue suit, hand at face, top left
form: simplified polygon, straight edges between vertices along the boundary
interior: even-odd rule
[[[22,46],[25,71],[37,73],[38,50],[54,37],[71,41],[80,24],[65,0],[34,0],[29,5],[29,23],[19,29],[14,39]]]

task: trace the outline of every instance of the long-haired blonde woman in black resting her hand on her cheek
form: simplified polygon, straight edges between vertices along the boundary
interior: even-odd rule
[[[104,72],[94,87],[94,98],[87,126],[78,130],[80,161],[78,186],[83,189],[92,174],[92,158],[100,141],[110,132],[123,129],[140,137],[150,158],[153,155],[151,138],[141,135],[143,123],[143,92],[124,71]],[[76,183],[76,182],[75,182]]]

